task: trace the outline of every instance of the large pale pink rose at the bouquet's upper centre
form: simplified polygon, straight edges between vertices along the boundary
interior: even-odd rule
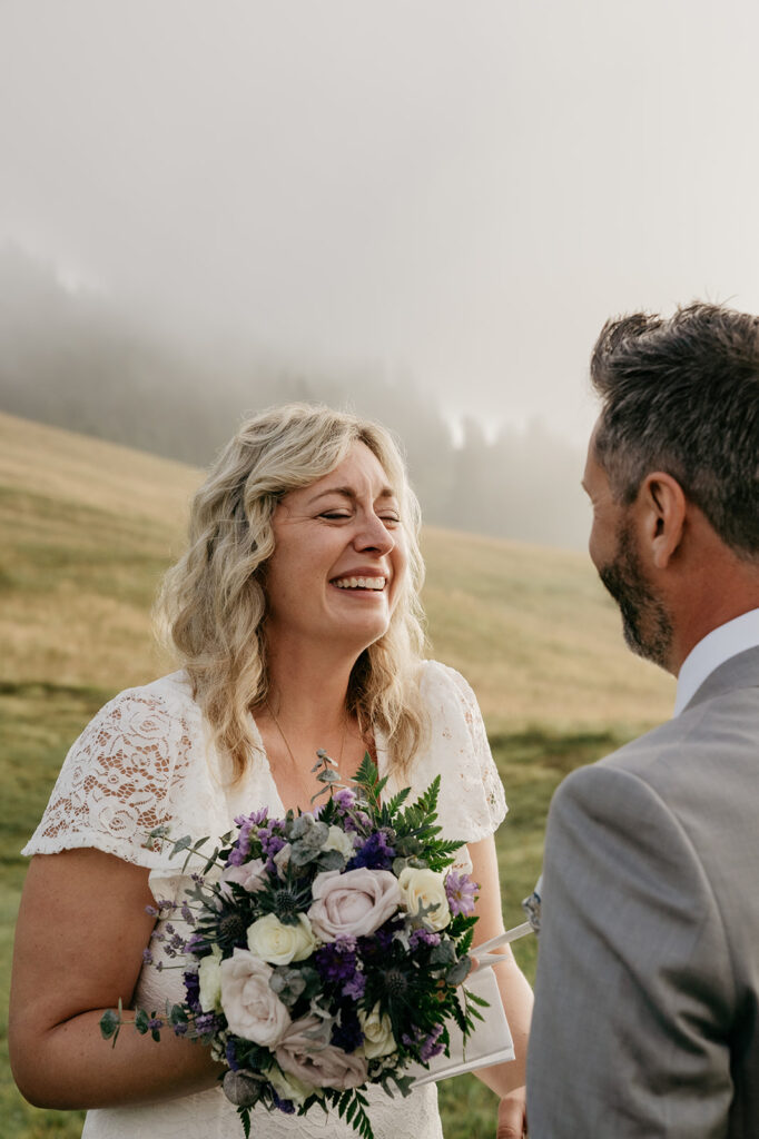
[[[398,878],[390,870],[326,870],[311,887],[311,926],[318,937],[362,937],[378,929],[401,904]]]

